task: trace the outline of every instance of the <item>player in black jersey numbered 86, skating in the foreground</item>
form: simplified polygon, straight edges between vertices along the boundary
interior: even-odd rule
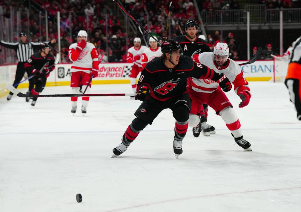
[[[224,74],[216,73],[188,56],[181,56],[182,48],[177,41],[164,41],[161,51],[163,56],[148,62],[141,72],[135,99],[142,103],[135,112],[136,118],[124,132],[121,143],[113,149],[112,157],[127,150],[140,131],[146,125],[151,125],[162,110],[169,108],[176,119],[173,151],[178,158],[182,154],[182,141],[187,132],[191,107],[191,99],[186,90],[187,78],[214,80],[219,82],[225,92],[232,87]]]

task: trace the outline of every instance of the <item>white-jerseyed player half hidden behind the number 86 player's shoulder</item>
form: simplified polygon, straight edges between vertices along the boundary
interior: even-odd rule
[[[154,36],[154,38],[156,38],[156,37]],[[150,48],[146,48],[143,51],[143,54],[141,57],[142,68],[144,68],[146,66],[146,63],[148,63],[155,57],[161,57],[163,55],[161,52],[161,47],[158,46],[158,43],[154,38],[150,37],[150,40],[149,40]]]

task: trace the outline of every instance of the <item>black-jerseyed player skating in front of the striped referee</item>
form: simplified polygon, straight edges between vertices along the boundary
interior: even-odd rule
[[[45,87],[47,77],[54,70],[55,58],[49,54],[49,51],[49,45],[41,43],[41,52],[34,53],[24,64],[24,68],[35,75],[35,77],[31,78],[35,87],[28,91],[27,94],[39,95]],[[37,97],[32,98],[31,106],[34,106],[36,101]]]

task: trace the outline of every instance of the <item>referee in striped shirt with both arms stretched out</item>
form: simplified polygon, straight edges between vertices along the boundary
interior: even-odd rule
[[[56,42],[55,39],[51,40],[50,43],[54,44]],[[49,41],[46,41],[44,43],[49,43]],[[34,50],[39,50],[41,48],[41,42],[30,42],[27,41],[27,34],[25,32],[20,33],[20,42],[5,42],[4,40],[0,40],[0,45],[8,48],[13,49],[17,53],[17,59],[18,59],[18,65],[17,65],[17,71],[15,76],[15,81],[13,82],[13,85],[18,84],[25,73],[24,64],[25,62],[34,54]],[[31,76],[32,73],[27,73],[28,76]],[[17,88],[18,85],[15,86]],[[29,79],[29,90],[32,90],[34,88],[33,81]],[[13,96],[13,93],[10,92],[7,100],[10,100]]]

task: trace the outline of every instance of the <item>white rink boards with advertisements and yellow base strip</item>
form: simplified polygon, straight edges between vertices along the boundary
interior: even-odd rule
[[[237,61],[244,63],[247,61]],[[282,63],[286,63],[283,61]],[[98,77],[95,77],[92,84],[121,84],[130,83],[129,74],[133,63],[100,63]],[[274,65],[272,60],[256,61],[249,65],[241,66],[247,81],[269,81],[275,73],[283,73],[283,65]],[[17,65],[0,66],[0,97],[5,95],[5,84],[13,83]],[[66,86],[70,85],[71,64],[57,64],[55,71],[47,78],[46,86]],[[285,69],[285,68],[284,68]],[[286,70],[284,71],[286,72]],[[277,75],[277,74],[276,74]],[[24,78],[22,79],[24,80]],[[19,88],[28,87],[28,81],[21,83]]]

